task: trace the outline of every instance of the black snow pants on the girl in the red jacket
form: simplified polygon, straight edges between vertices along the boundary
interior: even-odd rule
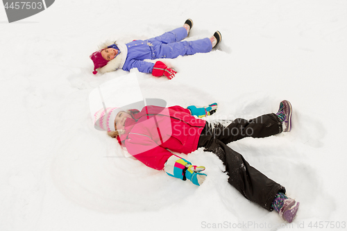
[[[216,154],[226,166],[228,182],[245,198],[272,211],[271,203],[278,191],[285,193],[285,187],[267,178],[249,165],[244,157],[226,146],[244,137],[269,137],[282,132],[282,123],[276,114],[264,114],[255,119],[235,119],[227,127],[217,124],[212,128],[206,123],[201,132],[198,148]]]

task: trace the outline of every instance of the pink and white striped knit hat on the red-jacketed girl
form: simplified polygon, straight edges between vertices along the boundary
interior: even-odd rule
[[[94,114],[94,127],[97,130],[105,130],[107,132],[115,131],[115,118],[118,113],[117,109],[121,108],[106,108],[101,109]],[[112,113],[113,112],[113,113]]]

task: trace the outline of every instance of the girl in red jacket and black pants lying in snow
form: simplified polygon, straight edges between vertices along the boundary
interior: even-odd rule
[[[291,130],[291,104],[282,101],[278,112],[255,119],[235,119],[228,126],[211,126],[201,117],[213,114],[217,103],[206,108],[147,105],[139,110],[109,108],[96,113],[95,126],[117,137],[130,155],[169,176],[189,179],[201,185],[206,178],[204,166],[171,153],[192,153],[197,148],[215,153],[226,166],[228,182],[245,198],[269,211],[275,209],[282,219],[293,221],[299,203],[285,195],[285,187],[253,168],[244,157],[226,144],[244,137],[269,137]],[[169,151],[170,150],[170,151]]]

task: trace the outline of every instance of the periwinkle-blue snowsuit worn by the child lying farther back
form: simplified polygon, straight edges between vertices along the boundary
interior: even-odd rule
[[[212,50],[212,43],[208,37],[180,42],[185,37],[187,37],[187,30],[180,27],[149,40],[135,40],[127,43],[128,55],[122,69],[130,71],[132,68],[137,68],[140,72],[152,73],[154,63],[143,60],[176,58],[179,55],[208,53]]]

